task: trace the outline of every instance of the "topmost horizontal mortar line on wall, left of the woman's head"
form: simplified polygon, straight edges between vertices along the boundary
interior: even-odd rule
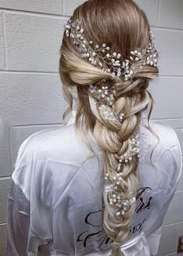
[[[14,13],[20,15],[27,15],[27,16],[37,16],[37,17],[47,17],[47,18],[54,18],[54,19],[64,19],[70,18],[70,15],[63,15],[63,14],[56,14],[56,13],[47,13],[47,12],[33,12],[33,11],[26,11],[26,10],[17,10],[17,9],[6,9],[0,8],[0,11],[4,13]]]

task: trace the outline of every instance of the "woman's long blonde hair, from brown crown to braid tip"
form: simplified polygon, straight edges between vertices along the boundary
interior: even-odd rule
[[[122,55],[121,62],[129,58],[130,50],[144,49],[150,43],[150,26],[145,13],[131,0],[88,0],[74,10],[71,19],[80,19],[85,29],[85,36],[94,44],[106,43],[111,52]],[[104,174],[115,175],[121,155],[129,155],[129,138],[136,134],[140,127],[141,113],[150,103],[150,114],[154,106],[154,99],[147,91],[149,81],[157,78],[158,68],[149,65],[137,71],[133,81],[112,77],[111,73],[102,71],[84,60],[70,37],[64,36],[60,48],[60,79],[63,85],[64,98],[68,102],[68,109],[63,118],[71,112],[73,96],[71,86],[76,86],[78,91],[78,109],[75,120],[76,131],[87,134],[90,130],[105,152]],[[98,99],[88,92],[88,85],[96,85],[101,81],[106,82],[110,88],[115,89],[115,110],[124,113],[123,124],[112,122],[99,112],[100,104],[95,104]],[[105,84],[104,84],[105,86]],[[84,126],[81,125],[85,123]],[[150,129],[150,126],[149,126]],[[151,129],[150,129],[151,130]],[[132,161],[123,165],[123,180],[119,189],[126,198],[129,192],[136,195],[139,189],[139,159],[133,157]],[[135,206],[130,206],[123,216],[114,216],[113,207],[109,204],[109,193],[104,192],[105,210],[103,227],[106,234],[113,240],[112,256],[121,255],[119,246],[129,236],[132,216]]]

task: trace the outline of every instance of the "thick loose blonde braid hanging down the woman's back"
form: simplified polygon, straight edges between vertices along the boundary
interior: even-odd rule
[[[138,79],[133,84],[130,82],[128,84],[129,86],[126,85],[126,92],[128,92],[128,87],[130,91],[133,84],[139,85],[138,92],[131,96],[120,97],[114,103],[115,112],[125,114],[123,124],[109,119],[106,120],[98,109],[97,99],[93,100],[92,96],[89,96],[91,111],[96,117],[94,136],[99,147],[105,150],[104,174],[109,174],[108,182],[111,183],[112,177],[116,175],[120,156],[130,154],[132,146],[129,143],[129,138],[136,135],[141,123],[141,111],[150,102],[149,93],[146,91],[147,82],[144,83],[141,79]],[[117,83],[117,86],[120,87],[119,83]],[[116,84],[114,84],[115,87]],[[123,180],[118,185],[118,192],[123,199],[128,198],[131,192],[136,195],[137,189],[139,189],[138,164],[139,158],[137,156],[133,156],[132,161],[123,164]],[[104,229],[117,246],[112,248],[112,256],[118,256],[121,255],[119,245],[123,244],[129,236],[135,204],[130,206],[123,216],[116,216],[114,206],[109,204],[112,192],[104,192],[103,197],[105,202]]]

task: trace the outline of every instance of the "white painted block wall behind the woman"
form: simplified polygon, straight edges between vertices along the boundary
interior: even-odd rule
[[[58,74],[63,25],[84,0],[0,0],[0,256],[5,255],[6,199],[20,144],[60,126]],[[160,78],[150,86],[153,118],[174,127],[183,150],[183,1],[136,0],[147,13],[160,52]],[[183,177],[168,210],[158,256],[177,255],[183,234]],[[178,254],[182,255],[182,254]]]

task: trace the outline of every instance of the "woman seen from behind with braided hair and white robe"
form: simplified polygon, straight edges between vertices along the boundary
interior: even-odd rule
[[[150,120],[157,50],[131,0],[89,0],[64,26],[60,78],[72,116],[19,148],[9,255],[157,254],[181,175],[171,126]]]

